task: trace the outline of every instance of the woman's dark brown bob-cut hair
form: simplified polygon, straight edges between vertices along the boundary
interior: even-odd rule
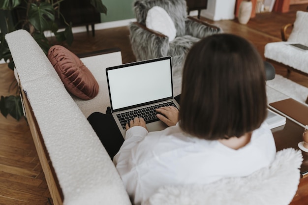
[[[188,52],[180,126],[207,140],[241,137],[267,115],[264,63],[254,46],[233,34],[214,34]]]

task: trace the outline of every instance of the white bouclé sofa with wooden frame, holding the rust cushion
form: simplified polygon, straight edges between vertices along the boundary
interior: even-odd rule
[[[109,106],[105,68],[122,64],[121,52],[82,59],[99,84],[92,100],[72,97],[26,30],[5,36],[22,88],[25,113],[55,205],[130,205],[122,180],[88,123]]]

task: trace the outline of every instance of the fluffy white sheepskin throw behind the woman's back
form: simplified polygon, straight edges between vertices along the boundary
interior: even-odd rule
[[[302,161],[300,150],[283,149],[270,168],[207,185],[164,186],[144,205],[288,205],[298,188]]]

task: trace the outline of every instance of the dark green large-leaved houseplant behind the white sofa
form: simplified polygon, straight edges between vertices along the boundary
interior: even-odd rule
[[[14,69],[14,62],[10,54],[8,45],[5,41],[5,34],[16,30],[16,25],[12,25],[12,11],[17,7],[25,9],[25,18],[18,22],[19,27],[26,29],[47,54],[52,44],[45,37],[44,31],[52,31],[57,41],[66,42],[71,45],[73,42],[72,25],[67,23],[63,31],[59,31],[57,18],[64,18],[60,13],[60,5],[64,0],[1,0],[0,10],[5,16],[5,28],[0,32],[0,60],[8,62],[8,67]],[[99,13],[107,14],[107,8],[101,0],[90,0],[91,4]],[[19,93],[10,96],[1,96],[0,112],[4,117],[11,115],[19,120],[23,116],[23,108]]]

